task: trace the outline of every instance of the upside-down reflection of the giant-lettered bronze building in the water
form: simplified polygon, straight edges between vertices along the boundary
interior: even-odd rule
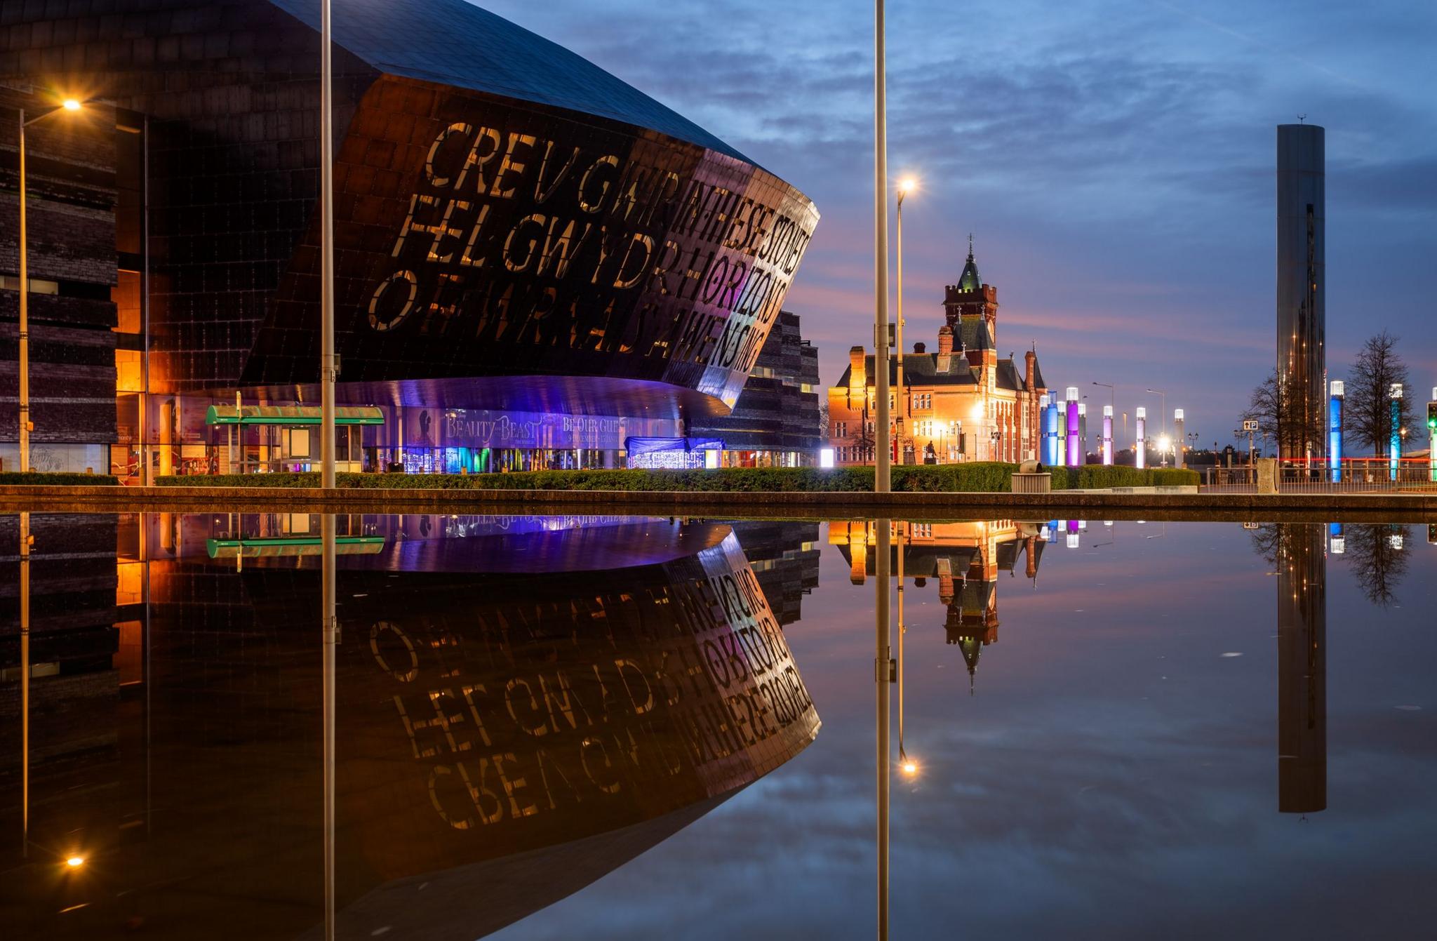
[[[818,731],[729,526],[339,523],[339,937],[489,934],[667,839]],[[96,580],[59,552],[57,524],[39,532],[59,556],[36,565],[56,629],[114,622],[118,595],[119,618],[148,612],[148,645],[134,664],[114,645],[56,657],[62,675],[36,681],[32,856],[19,839],[0,848],[0,924],[300,937],[320,919],[325,849],[319,520],[149,514],[119,529],[118,588],[115,552]],[[802,536],[780,526],[754,544],[785,559]],[[95,592],[102,603],[83,601]],[[3,641],[9,655],[13,632]],[[68,672],[86,680],[62,687]],[[13,690],[7,674],[4,754],[19,753]],[[76,718],[89,741],[56,748]],[[13,773],[0,793],[19,835]],[[70,852],[88,862],[60,884],[56,855]]]

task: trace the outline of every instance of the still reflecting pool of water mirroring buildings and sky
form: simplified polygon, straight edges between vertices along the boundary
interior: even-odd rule
[[[1428,938],[1434,573],[1426,524],[0,516],[0,937]]]

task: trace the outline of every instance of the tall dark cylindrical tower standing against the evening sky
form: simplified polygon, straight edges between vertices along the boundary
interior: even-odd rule
[[[1303,428],[1279,428],[1282,457],[1326,453],[1325,159],[1322,128],[1277,125],[1277,379],[1296,399],[1279,425]]]

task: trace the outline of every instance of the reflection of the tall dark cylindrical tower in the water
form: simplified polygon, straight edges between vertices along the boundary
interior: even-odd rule
[[[1328,806],[1326,559],[1322,527],[1277,527],[1277,810]]]

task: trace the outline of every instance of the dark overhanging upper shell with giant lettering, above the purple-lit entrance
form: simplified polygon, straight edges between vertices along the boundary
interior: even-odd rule
[[[391,9],[351,6],[365,22]],[[369,39],[412,59],[405,30],[433,27],[415,17],[441,7],[473,26],[463,4],[411,4],[389,14],[410,17],[392,24],[397,39]],[[503,68],[563,59],[535,57],[542,40],[520,33],[507,26],[519,46]],[[420,55],[483,47],[466,42]],[[366,55],[385,62],[382,49]],[[266,0],[0,11],[0,76],[55,75],[149,118],[154,391],[244,384],[293,398],[295,384],[318,379],[318,63],[316,32]],[[593,376],[737,398],[818,221],[800,193],[730,151],[632,124],[381,76],[339,47],[335,69],[345,381]],[[562,70],[525,78],[573,83]],[[466,129],[435,155],[456,126]],[[480,147],[461,187],[458,167],[486,129],[503,151]],[[435,174],[434,159],[453,170]],[[507,185],[489,190],[497,172]],[[453,231],[425,246],[445,223]],[[569,223],[573,256],[560,264]],[[417,237],[397,250],[402,233]],[[399,289],[376,293],[391,277]]]

